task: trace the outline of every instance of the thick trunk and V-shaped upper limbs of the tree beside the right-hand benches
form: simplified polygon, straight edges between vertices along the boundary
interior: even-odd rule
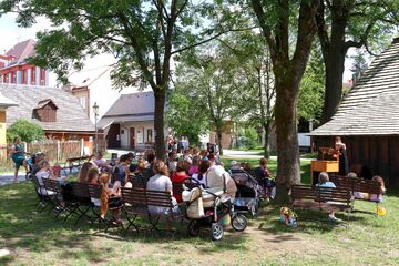
[[[288,191],[291,184],[300,183],[297,100],[299,82],[316,33],[315,14],[318,1],[301,0],[298,4],[289,0],[252,0],[250,3],[269,47],[273,63],[278,155],[276,202],[285,203],[289,201]],[[295,41],[289,38],[290,29],[296,29]],[[290,53],[291,42],[295,42],[293,53]]]

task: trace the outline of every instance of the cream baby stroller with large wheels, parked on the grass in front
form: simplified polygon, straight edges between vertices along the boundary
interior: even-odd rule
[[[247,218],[234,211],[231,197],[224,191],[203,188],[200,182],[193,178],[186,181],[188,184],[183,185],[182,198],[186,204],[186,218],[190,219],[190,235],[198,236],[201,227],[211,227],[212,239],[221,241],[224,235],[222,223],[228,221],[228,215],[233,229],[242,232],[247,227]]]

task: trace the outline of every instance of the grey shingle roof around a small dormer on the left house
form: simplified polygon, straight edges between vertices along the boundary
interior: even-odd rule
[[[44,131],[95,131],[78,98],[61,89],[0,84],[0,93],[19,104],[19,106],[11,106],[7,110],[7,124],[9,125],[19,119],[24,119],[41,125]],[[34,119],[33,109],[40,101],[49,99],[58,106],[57,122],[41,122]]]

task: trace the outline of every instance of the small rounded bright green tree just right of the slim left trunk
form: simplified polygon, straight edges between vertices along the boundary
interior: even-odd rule
[[[200,143],[200,135],[208,129],[207,116],[201,105],[185,93],[176,90],[167,101],[166,123],[177,137],[186,136],[191,144]]]

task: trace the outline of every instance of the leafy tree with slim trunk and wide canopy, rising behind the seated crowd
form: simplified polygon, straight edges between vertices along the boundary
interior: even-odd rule
[[[115,86],[149,84],[155,98],[157,157],[165,153],[164,106],[171,60],[228,31],[223,25],[223,10],[212,2],[188,0],[0,2],[0,14],[18,12],[17,22],[22,27],[32,25],[37,17],[48,18],[55,27],[38,33],[34,63],[54,70],[61,80],[65,81],[71,64],[79,70],[86,57],[110,52],[116,58],[112,71]],[[217,17],[217,23],[208,19],[212,17]]]

